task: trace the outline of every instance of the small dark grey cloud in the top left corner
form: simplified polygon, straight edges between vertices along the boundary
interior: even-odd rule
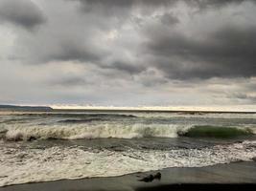
[[[32,30],[43,24],[46,18],[30,0],[2,0],[0,2],[1,20]]]

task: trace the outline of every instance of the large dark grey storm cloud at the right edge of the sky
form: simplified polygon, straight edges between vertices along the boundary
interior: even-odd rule
[[[155,66],[171,78],[255,76],[256,27],[225,26],[204,39],[194,37],[151,35],[147,46],[158,61]]]

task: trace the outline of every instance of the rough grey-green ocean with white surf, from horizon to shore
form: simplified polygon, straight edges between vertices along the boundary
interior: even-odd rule
[[[0,186],[256,158],[256,114],[0,112]]]

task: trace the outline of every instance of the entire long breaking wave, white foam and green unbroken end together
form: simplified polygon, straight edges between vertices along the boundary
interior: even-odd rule
[[[80,138],[232,138],[253,134],[248,128],[213,127],[213,126],[181,126],[175,124],[71,124],[71,125],[41,125],[16,126],[5,131],[4,139],[34,140],[34,139],[80,139]]]

